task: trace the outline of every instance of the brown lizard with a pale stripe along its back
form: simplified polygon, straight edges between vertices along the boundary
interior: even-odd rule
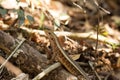
[[[77,76],[83,75],[86,80],[90,80],[89,76],[85,73],[85,71],[65,52],[65,50],[60,45],[56,34],[51,30],[44,30],[47,35],[52,49],[53,55],[56,55],[58,61],[73,75]]]

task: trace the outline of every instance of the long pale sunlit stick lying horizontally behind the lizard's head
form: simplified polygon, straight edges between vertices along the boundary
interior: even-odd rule
[[[21,29],[27,31],[28,33],[39,33],[40,35],[45,35],[44,31],[42,30],[34,30],[34,29],[29,29],[29,28],[26,28],[26,27],[21,27]],[[68,37],[74,37],[74,38],[87,38],[87,39],[93,39],[93,40],[96,40],[96,33],[94,32],[86,32],[86,33],[74,33],[74,32],[67,32],[67,31],[55,31],[55,34],[57,36],[68,36]],[[114,40],[114,39],[111,39],[111,38],[106,38],[102,35],[98,35],[99,37],[99,41],[101,42],[105,42],[105,43],[111,43],[111,44],[119,44],[119,41],[117,40]]]

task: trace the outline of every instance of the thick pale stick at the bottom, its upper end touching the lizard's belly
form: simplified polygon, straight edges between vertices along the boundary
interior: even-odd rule
[[[42,71],[40,74],[38,74],[35,78],[33,78],[32,80],[40,80],[42,77],[44,77],[46,74],[48,74],[49,72],[51,72],[52,70],[58,68],[59,66],[61,66],[60,62],[54,63],[53,65],[51,65],[50,67],[48,67],[47,69],[45,69],[44,71]]]

